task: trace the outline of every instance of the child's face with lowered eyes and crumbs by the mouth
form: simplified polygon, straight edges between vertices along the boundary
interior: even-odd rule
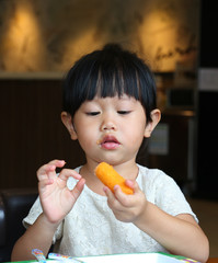
[[[79,140],[88,159],[117,164],[135,160],[150,132],[139,101],[127,95],[95,96],[76,112],[71,138]]]

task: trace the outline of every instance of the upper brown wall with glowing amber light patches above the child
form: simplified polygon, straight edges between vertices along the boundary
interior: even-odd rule
[[[195,67],[199,0],[1,0],[0,71],[65,71],[121,42],[156,71]]]

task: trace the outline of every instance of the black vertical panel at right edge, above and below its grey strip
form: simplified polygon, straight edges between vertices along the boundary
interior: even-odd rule
[[[217,70],[218,2],[202,0],[200,12],[199,68]],[[218,199],[218,83],[213,92],[204,85],[198,91],[197,106],[197,195]]]

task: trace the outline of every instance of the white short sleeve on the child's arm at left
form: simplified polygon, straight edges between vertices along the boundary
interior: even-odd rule
[[[35,222],[35,220],[38,218],[38,216],[43,213],[39,197],[35,201],[33,204],[31,210],[28,211],[28,215],[23,219],[23,226],[27,229],[31,225]],[[53,243],[56,242],[56,240],[60,239],[62,237],[62,222],[58,226],[54,238]]]

